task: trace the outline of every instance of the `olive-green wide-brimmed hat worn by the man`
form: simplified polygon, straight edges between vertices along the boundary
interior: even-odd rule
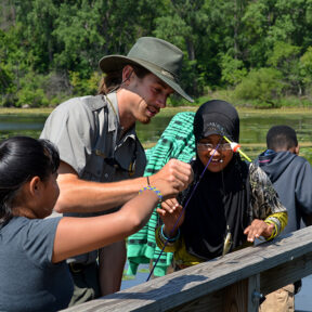
[[[157,76],[178,94],[194,102],[179,84],[183,52],[176,46],[154,37],[141,37],[131,48],[127,56],[107,55],[100,60],[103,73],[121,69],[126,65],[140,65]]]

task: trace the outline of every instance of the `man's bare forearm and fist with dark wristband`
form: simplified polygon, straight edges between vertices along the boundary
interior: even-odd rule
[[[171,159],[157,173],[148,177],[150,183],[164,179],[180,192],[193,179],[188,164]],[[57,212],[95,212],[120,206],[134,197],[147,184],[146,177],[120,182],[100,183],[84,181],[66,162],[61,162],[57,182],[61,194],[54,207]]]

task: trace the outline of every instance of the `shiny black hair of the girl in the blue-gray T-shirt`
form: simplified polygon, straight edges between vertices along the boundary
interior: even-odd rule
[[[0,143],[0,226],[12,218],[20,187],[34,177],[46,181],[58,166],[58,152],[48,140],[13,136]]]

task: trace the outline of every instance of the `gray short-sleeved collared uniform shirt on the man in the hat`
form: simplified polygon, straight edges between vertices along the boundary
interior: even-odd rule
[[[70,165],[79,179],[114,182],[142,177],[146,157],[135,128],[119,138],[122,129],[117,96],[116,93],[107,96],[74,98],[60,104],[48,117],[40,139],[48,139],[57,146],[61,160]],[[135,169],[133,173],[128,171],[131,167]],[[101,212],[64,213],[98,214]],[[96,257],[98,250],[69,259],[69,262],[91,263]]]

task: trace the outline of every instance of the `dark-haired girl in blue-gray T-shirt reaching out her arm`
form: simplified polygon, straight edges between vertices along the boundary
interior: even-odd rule
[[[60,195],[58,165],[58,153],[47,140],[15,136],[0,144],[0,311],[66,308],[73,280],[65,260],[136,232],[162,196],[181,186],[178,180],[158,179],[116,212],[43,219]]]

